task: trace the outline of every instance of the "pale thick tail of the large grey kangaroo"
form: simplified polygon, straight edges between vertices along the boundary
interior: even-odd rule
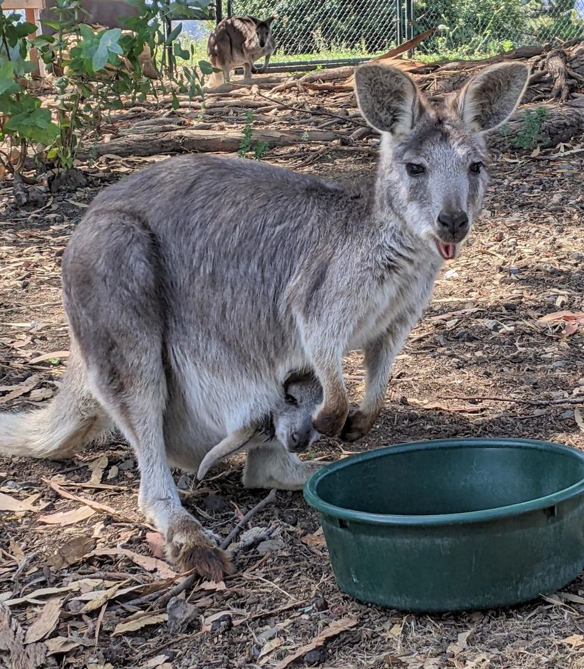
[[[48,406],[0,414],[0,455],[67,459],[110,430],[110,421],[84,383],[83,367],[71,351],[57,397]]]

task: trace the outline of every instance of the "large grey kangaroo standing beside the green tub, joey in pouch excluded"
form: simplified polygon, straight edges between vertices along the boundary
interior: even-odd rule
[[[170,558],[220,578],[230,561],[181,506],[169,465],[196,471],[221,439],[276,410],[290,369],[313,369],[322,385],[317,432],[369,431],[394,357],[481,209],[484,133],[514,111],[528,77],[497,64],[430,105],[403,72],[357,68],[361,114],[382,134],[372,188],[200,155],[107,187],[63,255],[61,392],[3,415],[0,452],[66,456],[113,422]],[[350,412],[342,359],[357,348],[366,387]],[[278,440],[253,445],[244,480],[297,487],[314,463],[292,456]]]

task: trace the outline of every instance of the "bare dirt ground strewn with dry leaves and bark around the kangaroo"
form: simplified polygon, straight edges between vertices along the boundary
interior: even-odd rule
[[[444,268],[396,361],[380,420],[352,451],[452,436],[584,448],[581,139],[507,155],[493,169],[471,244]],[[264,160],[340,179],[372,173],[373,151],[311,148]],[[68,348],[59,279],[68,236],[98,189],[146,162],[101,157],[86,187],[36,208],[15,208],[11,187],[0,190],[1,410],[43,406],[57,392]],[[557,315],[541,320],[549,314]],[[347,357],[346,372],[357,401],[359,355]],[[310,455],[337,459],[345,448],[323,440]],[[186,507],[223,537],[267,494],[243,489],[240,473],[235,459],[200,484],[176,474]],[[137,510],[138,481],[120,440],[66,463],[0,459],[0,667],[584,668],[582,576],[507,610],[366,606],[337,589],[300,493],[278,493],[252,518],[231,547],[234,576],[197,583],[167,607],[176,575]],[[317,639],[331,625],[337,633]]]

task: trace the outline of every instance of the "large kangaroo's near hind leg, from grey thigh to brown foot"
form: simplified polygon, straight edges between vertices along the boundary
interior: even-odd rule
[[[89,221],[87,221],[89,223]],[[140,509],[166,537],[183,570],[220,579],[227,555],[182,507],[167,465],[166,313],[160,249],[135,217],[96,213],[93,244],[75,238],[63,259],[63,291],[91,392],[133,447]],[[87,232],[87,229],[86,229]]]

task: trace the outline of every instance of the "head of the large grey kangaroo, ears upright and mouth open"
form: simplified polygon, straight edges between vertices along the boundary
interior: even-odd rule
[[[398,220],[442,259],[454,258],[482,206],[484,134],[514,112],[529,73],[520,63],[501,63],[432,105],[404,72],[379,64],[358,68],[359,109],[382,134],[377,215]]]

